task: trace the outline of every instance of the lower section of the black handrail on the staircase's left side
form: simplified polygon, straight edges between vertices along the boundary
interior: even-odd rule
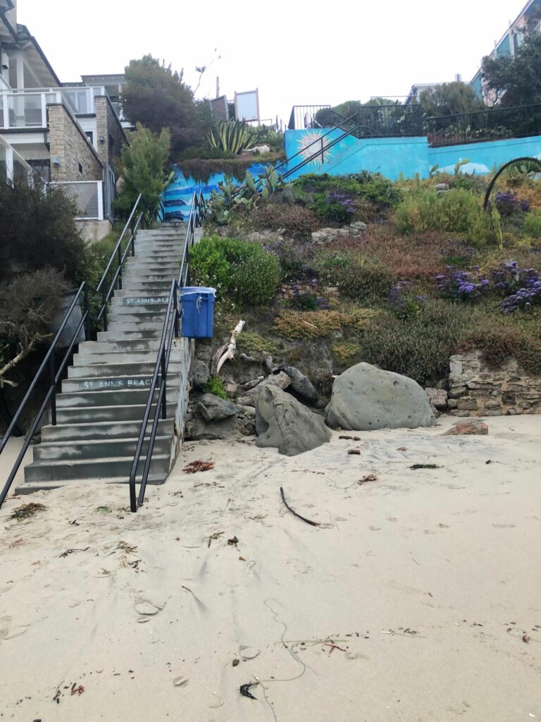
[[[69,343],[69,346],[68,346],[66,352],[64,353],[62,360],[58,363],[57,358],[56,358],[56,345],[58,344],[58,341],[61,338],[62,332],[66,328],[66,325],[71,318],[71,313],[73,312],[74,308],[76,308],[76,307],[80,308],[82,301],[84,303],[84,311],[81,315],[81,321],[79,321],[79,323],[77,324],[74,334],[71,336],[71,341]],[[21,403],[19,404],[19,408],[17,409],[17,412],[15,412],[12,422],[10,423],[9,427],[6,430],[6,433],[4,434],[4,438],[2,438],[2,440],[0,441],[0,454],[1,454],[2,451],[4,451],[4,448],[6,447],[6,444],[8,443],[9,438],[11,438],[12,432],[13,432],[14,428],[16,427],[17,422],[18,422],[19,418],[21,417],[23,410],[25,409],[27,401],[28,401],[28,399],[30,399],[30,396],[32,395],[32,392],[34,391],[38,381],[43,377],[43,375],[48,373],[49,374],[48,391],[47,391],[47,393],[45,393],[45,398],[43,399],[43,403],[41,404],[38,413],[35,415],[34,421],[32,422],[32,425],[30,426],[30,430],[27,432],[25,441],[22,444],[22,448],[19,451],[19,455],[17,456],[17,458],[15,460],[12,471],[9,473],[9,476],[6,479],[4,488],[0,492],[0,507],[4,503],[4,499],[6,498],[6,495],[9,492],[10,487],[12,486],[13,480],[17,475],[17,471],[19,471],[19,467],[21,466],[22,459],[24,458],[25,453],[27,452],[28,447],[30,446],[33,435],[35,434],[36,430],[38,429],[40,421],[43,418],[43,414],[45,413],[45,410],[47,409],[47,406],[49,404],[49,401],[50,401],[50,421],[53,426],[56,426],[56,386],[58,385],[58,381],[61,380],[63,370],[66,367],[66,363],[68,362],[69,357],[71,356],[71,352],[73,351],[75,344],[78,343],[77,339],[79,339],[79,334],[80,334],[81,330],[84,327],[87,327],[88,318],[89,318],[88,288],[87,288],[86,284],[82,283],[79,286],[79,290],[77,290],[77,292],[76,292],[74,300],[71,301],[71,304],[69,305],[69,308],[66,311],[65,316],[63,317],[63,321],[62,321],[60,327],[58,328],[58,331],[56,332],[56,336],[54,337],[53,341],[50,344],[48,352],[45,354],[45,358],[41,362],[38,372],[34,376],[32,383],[30,383],[30,386],[28,387],[28,390],[25,393],[24,399],[22,399]]]

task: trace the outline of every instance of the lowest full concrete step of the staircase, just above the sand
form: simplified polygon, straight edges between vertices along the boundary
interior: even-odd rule
[[[150,471],[153,477],[167,478],[170,469],[170,455],[152,455]],[[142,474],[145,459],[141,458],[137,473]],[[82,461],[34,461],[25,466],[25,482],[58,482],[76,479],[116,479],[123,477],[128,482],[132,456],[116,458],[84,459]]]

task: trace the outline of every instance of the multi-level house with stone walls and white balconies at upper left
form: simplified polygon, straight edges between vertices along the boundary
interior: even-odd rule
[[[61,184],[76,199],[85,235],[100,238],[113,219],[113,161],[126,135],[119,99],[107,92],[115,83],[94,82],[63,84],[17,22],[17,0],[0,0],[0,180],[30,167]]]

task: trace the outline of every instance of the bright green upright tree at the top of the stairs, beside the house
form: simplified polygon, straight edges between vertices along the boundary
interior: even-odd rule
[[[125,217],[131,212],[139,193],[146,203],[157,204],[169,181],[167,166],[170,155],[170,134],[166,128],[159,136],[137,123],[136,131],[128,136],[129,145],[120,152],[117,172],[123,179],[123,189],[115,207]]]

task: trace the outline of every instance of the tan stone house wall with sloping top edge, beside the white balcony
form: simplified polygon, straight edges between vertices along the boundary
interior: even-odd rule
[[[48,105],[50,180],[102,181],[103,166],[87,136],[64,105]],[[56,165],[55,158],[60,159]],[[80,167],[79,167],[80,166]]]

